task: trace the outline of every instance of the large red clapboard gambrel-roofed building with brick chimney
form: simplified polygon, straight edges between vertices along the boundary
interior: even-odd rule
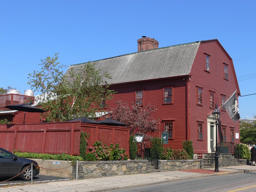
[[[71,65],[79,71],[80,65]],[[236,73],[231,57],[217,39],[158,48],[149,37],[138,40],[138,52],[96,61],[96,68],[108,72],[115,101],[128,103],[142,99],[142,105],[155,105],[151,114],[160,119],[159,131],[168,132],[168,145],[182,148],[183,140],[192,140],[194,153],[210,153],[215,147],[215,121],[210,116],[237,90]],[[68,73],[67,71],[67,73]],[[218,140],[239,143],[239,121],[233,122],[220,108]],[[238,136],[238,137],[237,137]]]

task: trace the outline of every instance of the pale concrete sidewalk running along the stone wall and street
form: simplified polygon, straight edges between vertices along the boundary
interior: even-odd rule
[[[220,167],[220,172],[214,172],[214,168],[193,169],[182,171],[152,172],[137,175],[122,175],[112,177],[102,177],[84,180],[54,181],[40,184],[27,184],[23,186],[1,187],[1,192],[32,192],[32,191],[91,191],[100,192],[123,188],[132,188],[145,185],[159,184],[178,180],[188,180],[193,178],[210,177],[217,175],[235,174],[243,172],[254,172],[256,166],[240,165],[230,167]]]

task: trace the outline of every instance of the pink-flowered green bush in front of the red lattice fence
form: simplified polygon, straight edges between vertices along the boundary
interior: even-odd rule
[[[119,144],[103,145],[103,143],[96,141],[93,147],[89,147],[91,153],[95,154],[97,161],[118,161],[127,160],[127,156],[124,154],[125,149],[119,148]]]

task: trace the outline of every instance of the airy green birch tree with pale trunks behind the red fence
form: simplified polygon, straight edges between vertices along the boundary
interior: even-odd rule
[[[37,98],[38,105],[46,110],[43,118],[47,122],[66,121],[80,116],[94,117],[96,112],[102,111],[101,102],[112,99],[115,92],[109,90],[102,76],[110,79],[108,73],[100,75],[100,69],[94,68],[95,63],[88,62],[81,65],[78,73],[73,68],[63,75],[58,53],[55,57],[47,57],[39,64],[41,71],[28,74],[28,84],[41,92]]]

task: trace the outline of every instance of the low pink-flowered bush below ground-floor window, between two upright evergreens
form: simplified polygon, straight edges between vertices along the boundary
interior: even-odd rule
[[[172,148],[164,148],[162,159],[188,159],[188,153],[185,149],[172,150]]]

